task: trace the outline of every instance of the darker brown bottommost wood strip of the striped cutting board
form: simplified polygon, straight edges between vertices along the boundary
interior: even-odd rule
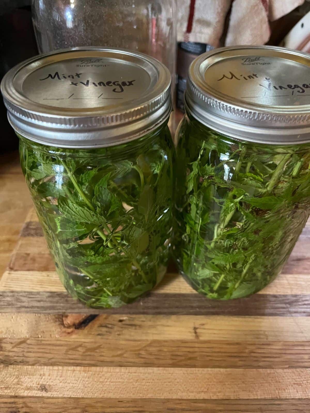
[[[305,413],[309,411],[309,402],[302,399],[176,400],[16,396],[2,398],[0,408],[5,413]]]

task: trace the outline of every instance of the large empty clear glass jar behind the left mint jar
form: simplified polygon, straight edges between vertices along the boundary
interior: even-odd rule
[[[122,47],[155,57],[175,74],[176,0],[33,0],[32,15],[41,53]]]

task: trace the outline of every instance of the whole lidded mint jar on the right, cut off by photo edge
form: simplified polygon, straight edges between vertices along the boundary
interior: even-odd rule
[[[245,46],[206,53],[189,69],[177,131],[174,256],[208,298],[264,288],[308,220],[310,94],[300,96],[310,87],[309,63],[302,53]]]

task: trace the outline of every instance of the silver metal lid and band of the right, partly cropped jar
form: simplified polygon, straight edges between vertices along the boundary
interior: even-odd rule
[[[186,110],[239,140],[310,142],[310,55],[272,46],[223,47],[188,71]]]

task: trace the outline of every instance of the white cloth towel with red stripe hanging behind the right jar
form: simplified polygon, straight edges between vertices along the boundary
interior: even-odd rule
[[[208,43],[214,47],[262,45],[274,21],[305,0],[177,0],[178,41]],[[221,40],[231,8],[226,38]]]

